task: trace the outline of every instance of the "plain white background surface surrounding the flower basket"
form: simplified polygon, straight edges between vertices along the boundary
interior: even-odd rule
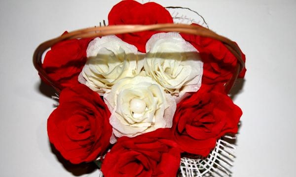
[[[65,30],[107,20],[119,0],[0,0],[0,176],[73,177],[52,152],[46,119],[54,109],[32,64],[37,45]],[[241,118],[233,177],[295,177],[296,1],[156,0],[190,7],[247,56],[235,97]],[[98,177],[94,172],[82,177]]]

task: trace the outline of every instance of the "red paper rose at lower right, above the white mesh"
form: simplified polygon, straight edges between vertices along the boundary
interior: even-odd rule
[[[205,86],[178,104],[172,128],[182,150],[202,156],[207,156],[225,133],[237,133],[242,115],[222,86],[215,90]]]

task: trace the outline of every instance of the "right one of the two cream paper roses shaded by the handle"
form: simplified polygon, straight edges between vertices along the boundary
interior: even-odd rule
[[[146,51],[146,74],[172,94],[177,103],[186,92],[196,92],[200,88],[203,62],[198,51],[179,33],[152,35]]]

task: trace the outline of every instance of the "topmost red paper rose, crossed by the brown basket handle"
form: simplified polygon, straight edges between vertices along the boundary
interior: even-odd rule
[[[169,11],[155,2],[141,4],[135,0],[123,0],[112,7],[108,21],[109,25],[151,25],[173,23],[173,18]],[[140,52],[146,53],[146,42],[155,33],[157,32],[143,31],[117,36],[136,46]]]

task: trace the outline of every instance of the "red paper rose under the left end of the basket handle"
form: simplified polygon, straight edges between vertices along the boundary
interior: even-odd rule
[[[63,87],[78,84],[78,75],[86,62],[86,49],[90,40],[71,39],[52,46],[42,64],[48,76]]]

